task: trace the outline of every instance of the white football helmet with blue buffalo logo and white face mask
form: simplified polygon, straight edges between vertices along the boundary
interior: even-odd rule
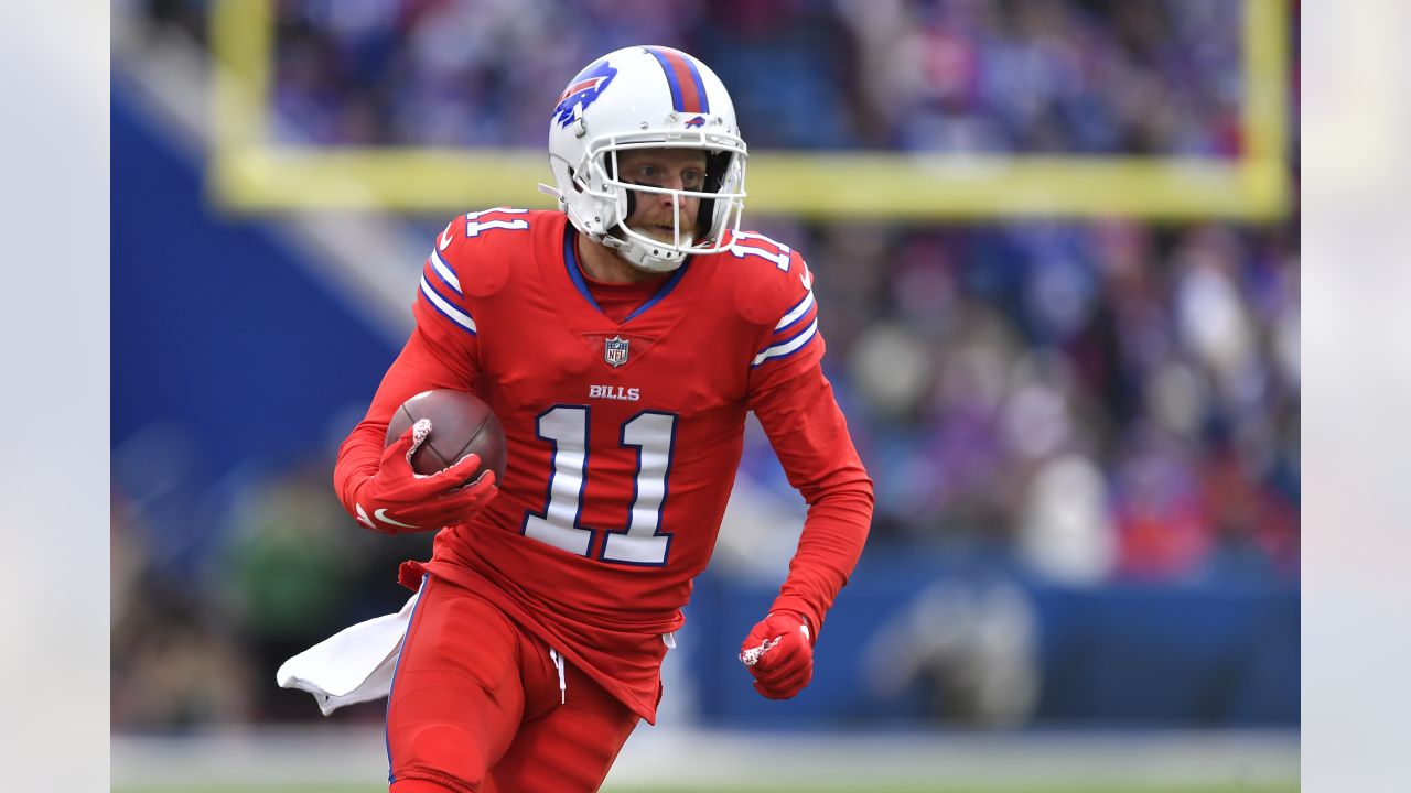
[[[706,151],[703,189],[621,181],[618,152],[636,148]],[[586,237],[634,267],[669,272],[690,254],[722,250],[724,231],[738,230],[745,158],[735,106],[715,72],[679,49],[628,47],[594,61],[559,96],[549,120],[549,167],[557,189],[545,189]],[[694,227],[682,226],[677,200],[672,243],[631,229],[634,190],[698,198]]]

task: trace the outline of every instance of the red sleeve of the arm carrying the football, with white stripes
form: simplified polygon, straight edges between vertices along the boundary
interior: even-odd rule
[[[358,491],[377,473],[387,425],[408,398],[432,388],[474,391],[480,375],[478,344],[470,305],[461,295],[449,257],[433,250],[418,286],[412,315],[416,329],[382,375],[367,416],[339,447],[333,488],[349,515],[357,516]]]

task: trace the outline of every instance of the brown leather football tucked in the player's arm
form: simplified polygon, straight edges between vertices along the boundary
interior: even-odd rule
[[[480,454],[481,471],[495,471],[495,481],[505,477],[505,430],[484,401],[467,391],[436,388],[412,396],[392,413],[387,425],[387,444],[406,432],[418,419],[430,419],[432,433],[412,454],[412,468],[418,474],[435,474],[449,468],[466,454]]]

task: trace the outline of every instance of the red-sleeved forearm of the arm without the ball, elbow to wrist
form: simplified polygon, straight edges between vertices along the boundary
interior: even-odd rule
[[[789,577],[770,611],[794,611],[809,621],[817,639],[838,591],[862,556],[872,525],[872,481],[864,474],[838,485],[809,508]]]

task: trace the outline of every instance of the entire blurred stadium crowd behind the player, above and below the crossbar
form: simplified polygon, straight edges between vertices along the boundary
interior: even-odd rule
[[[205,3],[133,4],[154,28],[206,37]],[[577,68],[659,42],[713,65],[759,158],[1237,157],[1239,13],[1228,0],[284,1],[275,100],[291,134],[319,144],[539,147]],[[413,222],[430,238],[444,219]],[[1273,224],[746,224],[817,274],[828,375],[878,487],[873,545],[1002,556],[1078,586],[1297,580],[1297,209]],[[114,488],[114,724],[312,715],[253,691],[271,663],[370,617],[395,562],[426,547],[341,514],[330,449],[258,498],[203,507],[223,526],[210,552],[223,562],[202,567],[214,574],[154,547],[145,525],[161,518]],[[758,432],[744,468],[792,492]]]

